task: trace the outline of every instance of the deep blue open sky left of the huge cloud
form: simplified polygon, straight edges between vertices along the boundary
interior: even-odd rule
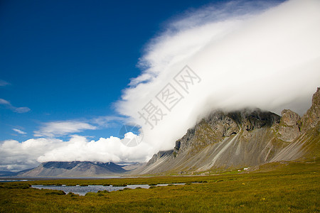
[[[1,1],[0,141],[33,138],[48,122],[118,116],[113,103],[141,72],[149,39],[212,2]],[[121,124],[79,134],[117,136]]]

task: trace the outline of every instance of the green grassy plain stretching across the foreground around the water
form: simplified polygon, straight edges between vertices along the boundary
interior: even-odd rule
[[[228,175],[6,182],[0,183],[0,212],[320,212],[319,165],[273,163],[255,173]],[[176,182],[188,184],[86,196],[29,187]]]

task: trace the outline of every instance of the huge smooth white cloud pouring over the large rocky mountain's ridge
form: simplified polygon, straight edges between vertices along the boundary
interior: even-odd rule
[[[152,39],[140,59],[142,74],[117,103],[156,150],[173,148],[214,109],[259,107],[279,114],[289,108],[303,114],[310,107],[320,86],[320,1],[286,1],[267,10],[255,1],[233,14],[225,9],[230,4],[191,13]],[[208,18],[210,13],[218,16]],[[150,100],[161,107],[156,95],[185,65],[201,82],[174,109],[163,108],[166,116],[151,129],[138,111]]]

